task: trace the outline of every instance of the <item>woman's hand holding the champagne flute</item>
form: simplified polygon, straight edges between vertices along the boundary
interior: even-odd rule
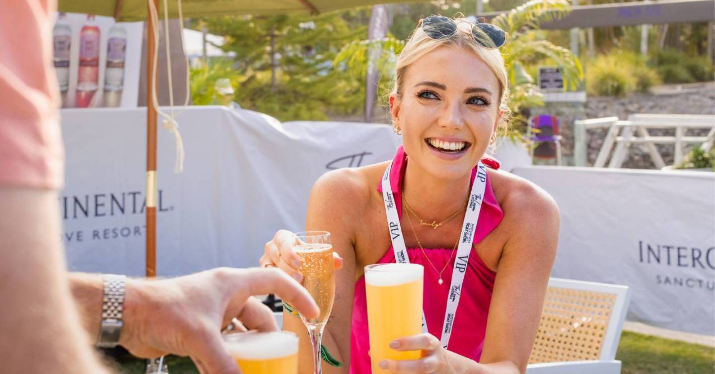
[[[285,271],[289,276],[292,276],[299,283],[303,281],[303,276],[298,271],[300,268],[300,258],[295,251],[293,245],[295,243],[295,235],[287,230],[280,230],[275,233],[271,241],[266,243],[259,263],[262,268],[276,267]],[[332,253],[335,259],[335,270],[342,268],[342,258],[335,251]]]

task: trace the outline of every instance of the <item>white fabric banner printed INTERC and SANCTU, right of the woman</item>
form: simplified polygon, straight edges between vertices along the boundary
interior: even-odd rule
[[[561,210],[552,276],[631,287],[629,320],[715,335],[715,173],[527,167]]]

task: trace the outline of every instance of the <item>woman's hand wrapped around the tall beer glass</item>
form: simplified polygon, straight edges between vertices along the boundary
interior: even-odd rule
[[[430,333],[395,339],[390,342],[394,350],[422,350],[419,360],[382,360],[380,368],[390,373],[449,374],[450,353],[442,348],[440,340]]]

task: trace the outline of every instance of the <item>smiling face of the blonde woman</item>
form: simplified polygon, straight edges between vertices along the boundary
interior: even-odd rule
[[[478,56],[443,46],[408,66],[390,97],[405,152],[434,176],[460,178],[484,155],[499,112],[499,82]]]

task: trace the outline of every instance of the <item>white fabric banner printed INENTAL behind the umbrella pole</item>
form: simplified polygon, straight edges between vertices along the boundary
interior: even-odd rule
[[[61,116],[59,204],[70,270],[143,276],[146,111],[65,109]],[[184,173],[174,173],[174,137],[159,128],[159,276],[257,266],[277,229],[304,229],[308,193],[322,173],[386,161],[399,144],[390,126],[280,123],[217,106],[189,107],[177,121]]]

